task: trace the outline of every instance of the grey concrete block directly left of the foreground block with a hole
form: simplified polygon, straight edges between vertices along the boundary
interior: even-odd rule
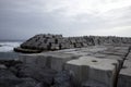
[[[37,64],[40,67],[49,67],[56,71],[62,71],[67,61],[76,59],[78,57],[71,53],[62,52],[46,52],[38,54],[22,54],[20,60],[28,64]]]

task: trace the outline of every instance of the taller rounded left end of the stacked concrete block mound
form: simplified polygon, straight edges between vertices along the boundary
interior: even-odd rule
[[[51,35],[51,34],[40,34],[36,35],[33,38],[28,39],[26,42],[22,44],[22,48],[26,49],[37,49],[37,50],[52,50],[52,48],[58,49],[58,39],[62,39],[61,35]],[[52,44],[52,47],[51,47]]]

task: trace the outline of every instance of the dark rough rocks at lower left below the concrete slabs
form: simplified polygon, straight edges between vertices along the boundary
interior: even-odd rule
[[[0,87],[73,87],[73,84],[67,71],[0,60]]]

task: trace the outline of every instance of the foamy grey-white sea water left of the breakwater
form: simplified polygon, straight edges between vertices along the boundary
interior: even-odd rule
[[[19,53],[13,48],[19,47],[23,41],[0,41],[0,60],[17,59]]]

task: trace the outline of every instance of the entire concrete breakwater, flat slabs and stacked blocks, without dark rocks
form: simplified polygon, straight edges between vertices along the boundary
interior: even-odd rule
[[[25,65],[67,71],[73,86],[55,87],[131,86],[131,38],[40,34],[14,50],[32,52],[20,54],[19,60]]]

